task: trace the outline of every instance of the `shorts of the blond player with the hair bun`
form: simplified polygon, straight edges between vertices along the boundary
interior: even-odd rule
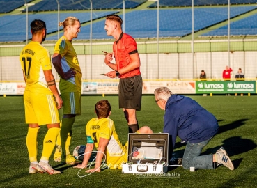
[[[63,92],[63,114],[81,114],[81,93],[80,92]]]

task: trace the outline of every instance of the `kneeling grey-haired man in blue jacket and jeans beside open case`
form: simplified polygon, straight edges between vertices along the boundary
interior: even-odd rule
[[[187,143],[182,158],[184,169],[215,169],[219,164],[234,169],[223,147],[213,155],[201,155],[203,147],[219,130],[217,119],[212,113],[189,97],[173,94],[167,87],[155,89],[155,102],[160,109],[165,110],[163,132],[169,133],[173,148],[177,136]]]

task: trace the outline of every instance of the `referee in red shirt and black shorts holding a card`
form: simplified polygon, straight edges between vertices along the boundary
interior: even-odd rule
[[[107,36],[113,36],[115,42],[113,52],[104,52],[104,63],[112,70],[105,74],[110,78],[119,77],[118,97],[119,107],[123,108],[130,133],[137,132],[139,125],[136,111],[141,110],[143,81],[140,72],[140,58],[137,52],[137,42],[132,36],[123,33],[123,20],[118,15],[107,15],[104,29]],[[114,55],[116,63],[111,63]]]

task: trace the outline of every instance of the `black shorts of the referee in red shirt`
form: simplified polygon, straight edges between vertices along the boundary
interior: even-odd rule
[[[142,87],[141,75],[120,79],[118,84],[119,108],[141,110]]]

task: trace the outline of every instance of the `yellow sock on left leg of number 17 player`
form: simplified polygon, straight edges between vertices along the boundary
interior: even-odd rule
[[[38,162],[38,130],[39,127],[29,127],[28,133],[26,134],[26,148],[28,148],[30,162]]]

